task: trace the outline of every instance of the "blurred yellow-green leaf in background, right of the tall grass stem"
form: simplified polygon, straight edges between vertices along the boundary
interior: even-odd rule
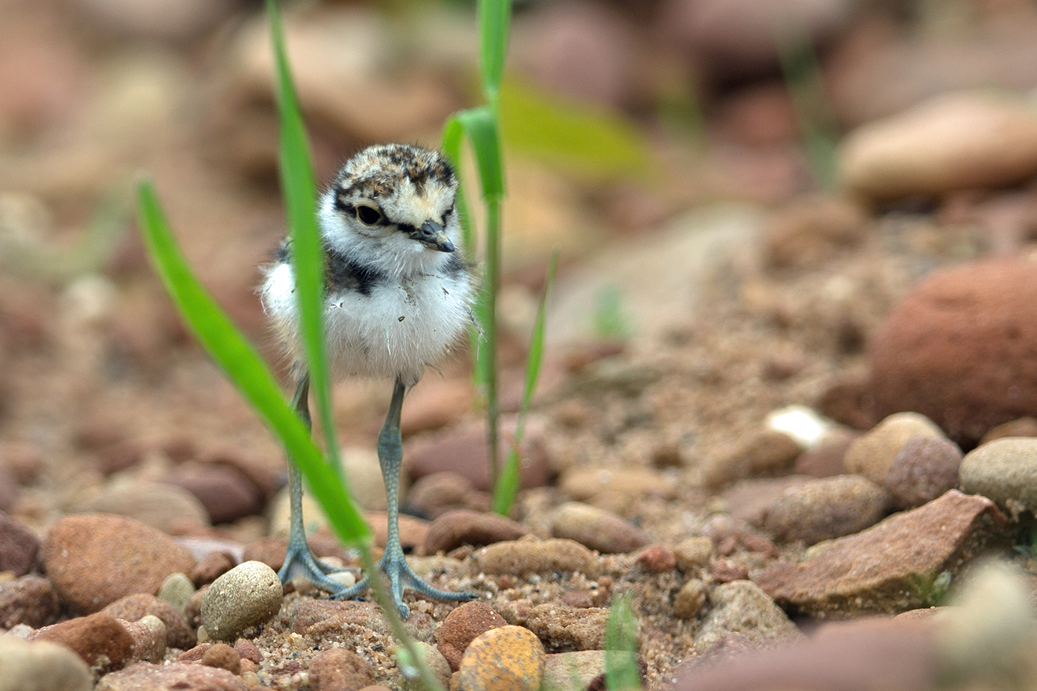
[[[655,169],[644,136],[619,115],[513,79],[501,90],[501,135],[509,148],[591,179],[643,178]]]

